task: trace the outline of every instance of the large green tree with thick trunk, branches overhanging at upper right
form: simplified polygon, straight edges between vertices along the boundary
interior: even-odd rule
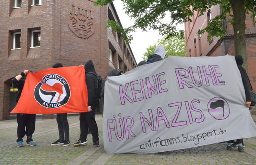
[[[106,5],[113,0],[97,0],[95,5]],[[129,35],[129,31],[135,28],[142,30],[155,29],[158,30],[161,35],[168,36],[184,36],[183,31],[177,31],[175,24],[181,24],[184,22],[192,22],[191,18],[194,15],[194,11],[203,15],[205,11],[214,5],[220,5],[221,13],[211,20],[205,29],[201,30],[201,34],[208,32],[208,40],[213,36],[224,37],[226,30],[223,29],[223,20],[226,16],[230,16],[230,23],[233,25],[234,37],[235,37],[235,54],[242,55],[244,57],[245,67],[246,53],[245,53],[245,18],[246,13],[251,12],[252,17],[255,17],[256,13],[256,0],[121,0],[125,3],[125,12],[130,17],[135,19],[133,26],[128,29],[122,29],[114,21],[108,21],[108,25],[117,25],[117,31],[122,32],[122,38],[126,42],[130,42],[132,37]],[[162,23],[166,15],[166,12],[170,12],[172,22]]]

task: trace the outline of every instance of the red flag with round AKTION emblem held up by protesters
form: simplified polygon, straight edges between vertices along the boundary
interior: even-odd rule
[[[85,69],[81,66],[28,72],[21,97],[11,113],[52,114],[87,111]]]

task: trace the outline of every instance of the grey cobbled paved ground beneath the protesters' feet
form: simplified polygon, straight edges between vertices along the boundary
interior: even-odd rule
[[[255,116],[253,116],[255,117]],[[96,115],[102,140],[102,118]],[[79,138],[79,116],[68,116],[71,143]],[[107,154],[89,143],[81,147],[51,146],[58,139],[55,119],[36,118],[33,135],[38,146],[16,146],[16,119],[0,121],[0,164],[256,164],[256,138],[245,140],[245,152],[227,151],[223,144],[212,144],[156,154]]]

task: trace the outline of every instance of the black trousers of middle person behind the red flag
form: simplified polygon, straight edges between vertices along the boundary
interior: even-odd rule
[[[59,140],[69,140],[69,125],[67,121],[67,113],[57,114],[56,120],[59,129]]]

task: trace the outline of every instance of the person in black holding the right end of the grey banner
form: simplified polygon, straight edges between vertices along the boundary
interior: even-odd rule
[[[242,77],[243,86],[244,86],[244,90],[245,90],[245,101],[246,101],[245,105],[249,108],[251,105],[250,93],[251,93],[252,87],[250,84],[249,77],[248,77],[246,71],[244,70],[244,68],[242,67],[243,57],[240,55],[235,55],[235,59],[236,59],[237,67],[238,67],[241,77]],[[227,150],[231,150],[232,148],[236,148],[236,147],[238,147],[239,152],[244,152],[243,139],[237,139],[235,143],[234,143],[234,140],[227,141]]]

